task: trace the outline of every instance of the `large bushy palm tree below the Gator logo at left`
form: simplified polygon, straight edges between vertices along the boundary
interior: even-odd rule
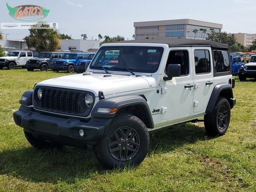
[[[24,40],[28,48],[35,48],[38,52],[56,51],[60,47],[60,34],[55,29],[29,29],[29,36]]]

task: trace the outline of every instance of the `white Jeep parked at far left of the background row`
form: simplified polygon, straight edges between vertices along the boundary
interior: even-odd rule
[[[0,57],[0,69],[7,67],[12,70],[15,67],[26,68],[26,61],[38,57],[34,51],[10,51],[7,56]]]

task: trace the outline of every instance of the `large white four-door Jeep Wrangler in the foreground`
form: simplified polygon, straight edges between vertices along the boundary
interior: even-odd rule
[[[109,52],[118,57],[104,62]],[[210,136],[228,129],[236,99],[226,44],[103,44],[86,65],[84,74],[42,81],[22,95],[14,120],[32,146],[92,145],[104,166],[123,167],[144,160],[151,131],[201,117]]]

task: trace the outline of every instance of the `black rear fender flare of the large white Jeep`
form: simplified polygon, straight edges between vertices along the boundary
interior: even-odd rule
[[[223,95],[224,92],[225,94]],[[213,88],[212,95],[206,107],[206,113],[211,113],[213,111],[219,96],[227,98],[231,109],[236,104],[236,99],[233,97],[232,86],[228,83],[220,83]]]

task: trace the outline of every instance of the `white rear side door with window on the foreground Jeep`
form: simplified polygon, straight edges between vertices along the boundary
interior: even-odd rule
[[[192,48],[194,63],[194,112],[206,110],[214,88],[210,48]]]

